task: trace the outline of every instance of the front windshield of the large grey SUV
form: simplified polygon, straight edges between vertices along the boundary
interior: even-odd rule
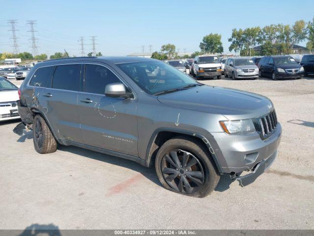
[[[128,62],[117,66],[148,94],[200,85],[188,75],[161,61]]]

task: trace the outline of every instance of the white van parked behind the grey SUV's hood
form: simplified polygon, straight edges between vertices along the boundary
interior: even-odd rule
[[[222,69],[217,55],[200,55],[194,59],[193,77],[221,79]]]

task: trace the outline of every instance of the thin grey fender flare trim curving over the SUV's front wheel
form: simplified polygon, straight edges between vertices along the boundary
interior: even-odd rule
[[[152,148],[152,145],[154,143],[154,141],[157,138],[158,133],[163,132],[163,131],[168,131],[168,132],[173,132],[173,133],[178,133],[178,134],[184,134],[184,135],[188,135],[188,136],[192,136],[192,137],[196,137],[200,140],[202,140],[204,142],[204,144],[207,146],[207,148],[209,149],[210,155],[212,156],[212,159],[214,160],[217,170],[219,173],[223,173],[223,170],[221,168],[221,164],[216,156],[216,153],[214,151],[214,148],[212,147],[212,145],[209,143],[209,140],[202,134],[200,133],[195,133],[189,130],[184,130],[184,129],[178,129],[178,128],[170,128],[170,127],[160,127],[158,129],[156,129],[154,131],[154,133],[152,134],[148,146],[147,146],[147,150],[146,150],[146,158],[145,158],[145,165],[149,166],[150,162],[151,162],[151,157],[152,155],[150,155],[150,150]]]

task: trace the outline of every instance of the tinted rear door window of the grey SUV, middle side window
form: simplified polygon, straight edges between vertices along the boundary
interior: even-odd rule
[[[79,91],[80,64],[58,65],[53,74],[52,88]]]

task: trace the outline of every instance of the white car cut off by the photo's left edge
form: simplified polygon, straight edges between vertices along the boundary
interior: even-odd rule
[[[0,77],[0,121],[20,118],[18,104],[19,88]]]

